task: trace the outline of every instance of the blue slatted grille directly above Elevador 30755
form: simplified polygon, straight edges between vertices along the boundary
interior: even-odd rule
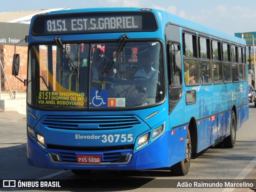
[[[136,116],[44,116],[41,123],[61,130],[111,130],[132,128],[141,122]]]

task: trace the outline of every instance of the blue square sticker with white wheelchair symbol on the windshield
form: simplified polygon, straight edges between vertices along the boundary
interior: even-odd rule
[[[90,91],[90,107],[108,107],[108,90],[91,89]]]

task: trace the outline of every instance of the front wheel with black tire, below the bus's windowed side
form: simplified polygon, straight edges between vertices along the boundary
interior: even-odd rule
[[[189,130],[187,132],[186,138],[186,158],[175,165],[171,166],[171,173],[178,176],[184,176],[188,174],[190,168],[190,161],[191,161],[191,154],[192,154],[192,145],[190,139]]]

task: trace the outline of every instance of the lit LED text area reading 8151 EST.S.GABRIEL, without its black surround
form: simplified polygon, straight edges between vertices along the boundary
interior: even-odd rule
[[[45,22],[45,33],[142,30],[142,16],[66,18]]]

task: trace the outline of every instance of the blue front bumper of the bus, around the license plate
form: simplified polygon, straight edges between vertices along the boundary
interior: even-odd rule
[[[28,164],[41,168],[52,169],[78,169],[78,170],[145,170],[170,166],[166,143],[162,138],[148,145],[146,148],[132,153],[132,150],[123,150],[128,154],[123,162],[111,162],[100,164],[86,164],[78,162],[56,162],[54,153],[46,153],[37,146],[30,137],[27,143]],[[81,152],[80,152],[81,153]],[[94,152],[97,155],[100,152]],[[82,153],[81,153],[82,154]],[[55,155],[55,154],[54,154]]]

